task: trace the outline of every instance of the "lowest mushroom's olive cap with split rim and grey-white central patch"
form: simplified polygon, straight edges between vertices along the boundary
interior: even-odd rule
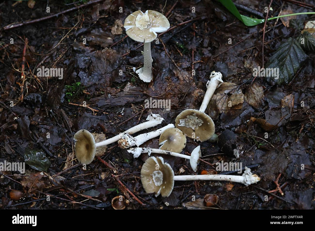
[[[162,157],[149,157],[141,168],[141,183],[146,193],[169,196],[174,187],[174,171]]]

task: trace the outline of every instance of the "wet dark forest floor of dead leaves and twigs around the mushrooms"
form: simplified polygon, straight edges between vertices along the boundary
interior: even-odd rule
[[[256,12],[270,3],[235,2]],[[253,81],[253,69],[267,63],[281,44],[298,38],[314,16],[268,21],[264,46],[263,23],[245,26],[209,0],[106,0],[3,28],[84,3],[32,4],[0,3],[0,162],[26,162],[25,173],[0,171],[1,209],[111,209],[119,195],[126,209],[203,209],[209,193],[219,197],[217,209],[314,209],[314,52],[306,52],[307,59],[288,84],[274,85],[259,76]],[[271,16],[313,11],[276,0],[271,6]],[[123,28],[124,19],[139,9],[163,13],[171,27],[151,44],[151,83],[134,72],[143,65],[142,43],[125,37]],[[43,66],[60,68],[63,76],[40,76],[37,69]],[[147,154],[133,158],[115,143],[86,169],[75,159],[73,135],[80,129],[111,138],[145,122],[151,113],[161,115],[163,123],[147,132],[174,123],[184,109],[198,109],[213,70],[222,73],[225,85],[217,89],[206,113],[219,139],[222,132],[233,132],[233,139],[224,141],[230,150],[187,137],[182,153],[201,146],[204,161],[198,174],[220,173],[215,163],[221,161],[254,165],[252,172],[261,178],[257,184],[180,181],[169,197],[155,197],[144,191],[140,180]],[[170,100],[170,110],[146,108],[150,98]],[[158,148],[158,137],[141,147]],[[163,158],[175,175],[194,173],[189,160]]]

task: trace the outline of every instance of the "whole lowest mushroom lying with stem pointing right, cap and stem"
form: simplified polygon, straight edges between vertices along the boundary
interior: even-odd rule
[[[248,186],[260,181],[259,176],[245,167],[242,176],[234,175],[180,175],[174,176],[174,171],[162,157],[149,157],[141,168],[141,182],[147,193],[156,193],[155,196],[169,196],[174,187],[175,180],[226,180],[238,182]]]

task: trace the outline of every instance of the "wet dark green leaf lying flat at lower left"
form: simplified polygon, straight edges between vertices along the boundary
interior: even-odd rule
[[[24,159],[26,164],[38,171],[47,172],[47,169],[50,167],[50,160],[43,151],[26,148]]]

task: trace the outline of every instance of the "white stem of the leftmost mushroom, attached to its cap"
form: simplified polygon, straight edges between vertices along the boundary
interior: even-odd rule
[[[119,135],[116,135],[110,139],[107,139],[107,140],[104,140],[104,141],[101,141],[101,142],[98,142],[96,143],[96,147],[101,147],[101,146],[105,146],[105,145],[109,145],[109,144],[112,144],[116,141],[118,141],[119,139],[122,138],[123,135],[125,134],[134,134],[138,131],[141,131],[141,130],[144,130],[144,129],[147,129],[147,128],[151,128],[151,127],[154,127],[158,124],[161,124],[162,121],[164,120],[160,115],[158,114],[151,114],[149,115],[146,120],[148,120],[147,122],[144,122],[142,124],[138,124],[128,130],[126,130],[125,132],[119,134]]]

